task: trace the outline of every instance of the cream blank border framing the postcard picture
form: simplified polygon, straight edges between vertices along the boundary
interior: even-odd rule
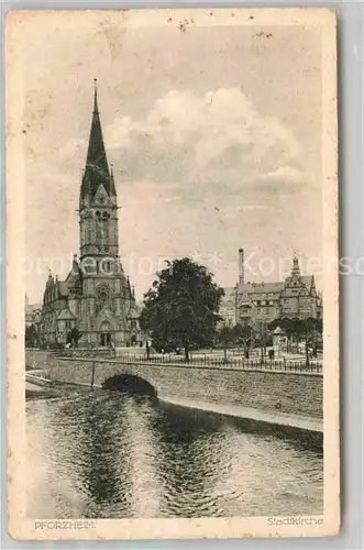
[[[100,10],[99,10],[100,11]],[[170,11],[170,10],[169,10]],[[337,50],[335,12],[323,8],[241,8],[213,9],[217,18],[211,21],[211,9],[199,9],[194,18],[198,24],[231,24],[234,11],[234,25],[247,24],[247,16],[254,23],[275,24],[272,18],[279,12],[279,24],[320,24],[322,26],[323,55],[323,227],[324,252],[330,258],[339,261],[338,253],[338,123],[337,123]],[[284,14],[283,14],[284,11]],[[190,9],[173,10],[170,13],[187,18]],[[264,13],[263,13],[264,12]],[[48,12],[54,13],[54,12]],[[59,13],[59,12],[57,12]],[[73,12],[73,16],[75,16]],[[110,12],[108,12],[110,13]],[[147,18],[145,16],[147,14]],[[55,530],[38,531],[34,520],[25,515],[24,498],[24,426],[25,409],[19,403],[24,399],[24,282],[19,268],[19,258],[24,255],[24,160],[22,158],[22,42],[19,31],[24,18],[37,16],[36,12],[12,11],[7,18],[5,30],[5,99],[7,99],[7,218],[8,218],[8,262],[7,262],[7,352],[8,352],[8,514],[9,530],[13,538],[34,540],[55,540]],[[168,10],[151,12],[128,12],[128,24],[157,24],[168,16]],[[229,18],[229,23],[228,23]],[[11,65],[10,65],[11,59]],[[15,215],[14,215],[15,212]],[[324,522],[323,525],[275,526],[268,518],[202,518],[202,519],[97,519],[96,528],[60,530],[56,539],[153,539],[153,538],[242,538],[242,537],[307,537],[334,535],[340,526],[339,488],[339,286],[338,271],[324,275]],[[11,305],[11,307],[10,307]],[[330,315],[328,314],[330,311]],[[23,441],[19,441],[23,433]],[[136,534],[136,537],[135,537]]]

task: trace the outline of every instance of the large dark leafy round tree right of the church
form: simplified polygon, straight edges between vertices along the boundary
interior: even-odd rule
[[[152,336],[155,349],[183,348],[186,361],[191,348],[211,345],[223,289],[213,275],[188,257],[167,262],[144,295],[141,328]]]

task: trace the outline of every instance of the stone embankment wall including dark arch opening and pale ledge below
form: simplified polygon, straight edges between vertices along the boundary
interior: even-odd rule
[[[27,369],[53,381],[147,393],[162,400],[322,431],[322,373],[190,366],[26,351]]]

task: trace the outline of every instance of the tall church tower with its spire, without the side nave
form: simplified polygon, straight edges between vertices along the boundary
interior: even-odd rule
[[[80,256],[79,262],[74,260],[73,273],[81,285],[76,314],[81,343],[123,345],[130,341],[135,300],[119,257],[117,190],[103,144],[96,79],[79,193],[79,238]]]

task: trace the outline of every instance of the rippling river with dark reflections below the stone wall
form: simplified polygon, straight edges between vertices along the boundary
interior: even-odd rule
[[[32,518],[322,514],[322,453],[249,421],[114,392],[26,402]]]

